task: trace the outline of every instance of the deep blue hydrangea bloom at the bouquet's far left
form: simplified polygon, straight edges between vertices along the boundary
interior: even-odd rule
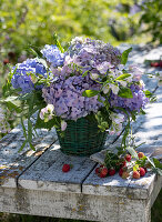
[[[11,84],[14,89],[21,89],[20,93],[28,93],[34,90],[34,83],[32,82],[30,73],[45,75],[47,69],[37,59],[28,59],[27,61],[13,67],[14,72]],[[40,89],[40,87],[38,88]],[[42,89],[42,87],[41,87]]]

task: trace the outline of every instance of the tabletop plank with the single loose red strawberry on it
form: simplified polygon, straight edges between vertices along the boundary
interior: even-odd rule
[[[65,163],[73,167],[68,173],[62,172],[62,165]],[[19,176],[18,184],[29,190],[80,193],[82,181],[94,165],[89,158],[63,154],[55,142]]]

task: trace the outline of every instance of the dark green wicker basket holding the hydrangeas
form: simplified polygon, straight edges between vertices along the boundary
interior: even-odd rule
[[[70,155],[87,157],[103,149],[107,133],[100,132],[95,121],[81,118],[69,121],[63,137],[57,131],[61,151]]]

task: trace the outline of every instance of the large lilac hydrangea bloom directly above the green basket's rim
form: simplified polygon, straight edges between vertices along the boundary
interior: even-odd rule
[[[53,104],[55,115],[67,120],[77,120],[90,112],[98,112],[103,105],[98,101],[98,95],[82,97],[87,88],[99,90],[100,85],[91,79],[87,81],[85,77],[74,75],[68,79],[60,77],[54,84],[43,88],[42,95],[47,103]]]

